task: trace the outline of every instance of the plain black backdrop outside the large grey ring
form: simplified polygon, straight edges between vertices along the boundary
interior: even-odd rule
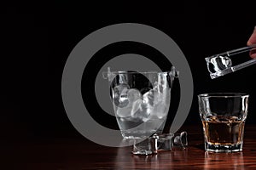
[[[227,5],[206,1],[15,3],[3,5],[0,18],[3,136],[79,135],[62,105],[61,74],[66,59],[91,32],[124,22],[164,31],[186,56],[194,79],[194,100],[185,124],[200,123],[196,95],[209,92],[250,94],[247,123],[255,123],[256,67],[212,80],[204,60],[246,46],[256,25],[255,8],[247,1]],[[114,123],[105,118],[97,121],[106,126]]]

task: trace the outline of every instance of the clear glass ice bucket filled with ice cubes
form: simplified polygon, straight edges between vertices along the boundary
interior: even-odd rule
[[[108,79],[119,129],[124,139],[148,138],[162,133],[171,100],[172,82],[178,72],[103,72]]]

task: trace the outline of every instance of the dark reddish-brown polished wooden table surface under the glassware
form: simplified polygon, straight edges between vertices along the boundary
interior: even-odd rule
[[[2,169],[256,169],[256,126],[246,125],[243,151],[207,153],[201,126],[183,126],[189,146],[153,156],[133,156],[131,147],[113,148],[81,138],[5,141]]]

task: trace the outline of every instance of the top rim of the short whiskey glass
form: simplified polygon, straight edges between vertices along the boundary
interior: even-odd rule
[[[200,98],[234,98],[234,97],[249,97],[249,94],[240,92],[213,92],[206,94],[198,94]]]

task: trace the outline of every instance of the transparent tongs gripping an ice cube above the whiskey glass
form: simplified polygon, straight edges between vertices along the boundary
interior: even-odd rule
[[[256,44],[247,46],[244,48],[237,48],[224,52],[222,54],[215,54],[211,57],[205,58],[207,61],[207,69],[210,72],[210,77],[217,78],[229,74],[230,72],[241,70],[249,65],[256,64],[256,59],[250,59],[238,65],[232,65],[232,57],[237,57],[238,54],[242,54],[243,57],[249,56],[249,53],[253,53],[256,50]]]

